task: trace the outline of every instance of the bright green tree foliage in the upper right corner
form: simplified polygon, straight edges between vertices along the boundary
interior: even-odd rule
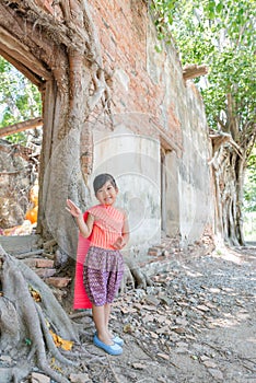
[[[255,7],[253,0],[153,0],[159,39],[175,39],[185,63],[207,63],[199,81],[211,128],[229,131],[231,94],[238,131],[255,123]]]

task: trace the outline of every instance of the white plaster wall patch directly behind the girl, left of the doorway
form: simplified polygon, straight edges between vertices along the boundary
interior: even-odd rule
[[[93,176],[115,176],[119,188],[117,204],[128,212],[129,244],[136,249],[160,242],[160,170],[159,140],[135,135],[125,126],[110,134],[95,132]]]

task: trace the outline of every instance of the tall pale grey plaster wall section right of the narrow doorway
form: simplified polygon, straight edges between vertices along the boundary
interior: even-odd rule
[[[186,93],[187,114],[183,123],[183,156],[179,160],[181,234],[185,244],[198,239],[207,225],[213,224],[213,198],[210,167],[210,143],[203,108],[193,86]]]

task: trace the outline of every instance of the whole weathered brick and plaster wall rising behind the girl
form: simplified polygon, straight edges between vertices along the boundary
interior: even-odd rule
[[[211,224],[213,214],[207,163],[210,146],[201,97],[193,83],[184,82],[176,50],[168,47],[162,54],[155,51],[158,40],[143,1],[92,4],[104,65],[110,74],[114,112],[114,127],[101,118],[93,125],[93,175],[100,169],[114,173],[125,196],[131,193],[131,201],[137,198],[142,211],[152,199],[158,211],[154,218],[162,219],[166,234],[181,234],[184,244],[191,243]],[[152,146],[152,138],[158,144]],[[151,149],[146,170],[139,160],[147,148]],[[161,148],[165,151],[162,171]],[[137,174],[133,179],[127,174],[131,170]],[[152,195],[148,192],[147,197],[144,177],[154,183]],[[140,209],[131,202],[128,207],[131,217],[139,219]],[[147,247],[152,228],[142,228],[132,232],[131,244]],[[160,241],[161,223],[154,224],[153,233],[153,240]]]

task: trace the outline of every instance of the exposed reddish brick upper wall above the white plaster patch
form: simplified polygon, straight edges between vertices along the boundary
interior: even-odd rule
[[[181,148],[181,123],[174,111],[175,103],[165,100],[167,54],[153,53],[154,62],[149,62],[150,51],[154,49],[150,42],[153,26],[146,2],[108,0],[104,3],[91,1],[91,4],[104,66],[110,74],[115,124],[125,121],[132,131],[151,137],[159,137],[158,129],[163,130],[173,147]],[[179,61],[175,65],[181,77]],[[170,76],[175,82],[177,73],[170,72]]]

